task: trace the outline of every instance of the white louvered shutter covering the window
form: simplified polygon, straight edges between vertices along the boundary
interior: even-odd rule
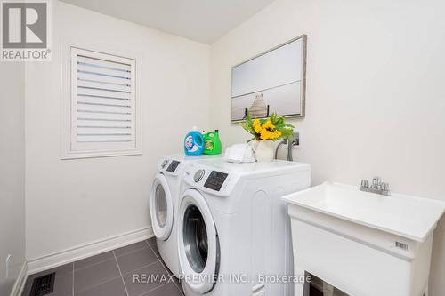
[[[134,59],[71,47],[71,153],[137,149],[135,71]]]

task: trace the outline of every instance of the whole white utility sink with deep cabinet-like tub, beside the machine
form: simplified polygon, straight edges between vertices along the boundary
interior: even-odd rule
[[[325,182],[283,197],[295,274],[308,271],[352,296],[427,295],[433,230],[445,203]],[[295,296],[303,285],[295,284]]]

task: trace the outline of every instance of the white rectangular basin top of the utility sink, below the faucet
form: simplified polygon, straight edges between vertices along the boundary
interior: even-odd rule
[[[359,188],[325,182],[285,196],[295,204],[316,212],[424,242],[445,210],[433,199],[392,194],[380,196]]]

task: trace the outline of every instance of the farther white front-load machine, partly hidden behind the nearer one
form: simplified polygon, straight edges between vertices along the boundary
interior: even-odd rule
[[[176,277],[180,274],[176,220],[184,165],[194,160],[212,157],[219,156],[178,154],[162,157],[158,162],[158,173],[153,180],[150,193],[150,218],[159,254],[166,263],[166,267]]]

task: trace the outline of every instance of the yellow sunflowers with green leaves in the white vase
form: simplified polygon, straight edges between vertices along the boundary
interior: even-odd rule
[[[285,118],[277,116],[275,112],[271,114],[271,117],[264,119],[252,119],[250,113],[247,112],[246,121],[239,125],[253,136],[247,140],[247,143],[252,140],[288,139],[292,137],[295,128],[292,124],[286,124]]]

